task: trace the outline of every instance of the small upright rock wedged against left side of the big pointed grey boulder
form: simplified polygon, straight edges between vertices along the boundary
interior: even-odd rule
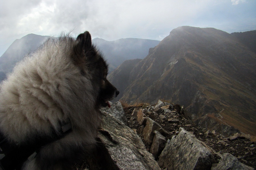
[[[165,147],[166,139],[160,132],[154,131],[154,133],[155,136],[150,147],[150,153],[154,156],[155,160],[157,160],[158,156]]]

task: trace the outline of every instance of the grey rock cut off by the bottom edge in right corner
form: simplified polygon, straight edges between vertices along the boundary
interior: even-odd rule
[[[218,165],[212,170],[253,170],[253,168],[239,162],[233,155],[224,153]]]

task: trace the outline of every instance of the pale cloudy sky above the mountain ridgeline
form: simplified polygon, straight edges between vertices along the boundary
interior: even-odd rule
[[[15,39],[85,30],[92,38],[162,40],[176,27],[256,29],[255,0],[2,0],[0,56]]]

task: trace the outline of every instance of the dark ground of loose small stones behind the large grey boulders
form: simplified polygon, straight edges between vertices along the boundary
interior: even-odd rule
[[[211,150],[215,160],[214,163],[220,161],[222,154],[229,153],[235,156],[241,163],[256,168],[256,143],[250,141],[250,135],[237,133],[234,136],[224,137],[224,135],[216,130],[204,133],[200,127],[187,117],[183,107],[162,101],[158,101],[154,106],[140,104],[124,107],[124,110],[129,127],[136,129],[136,132],[142,138],[150,153],[152,153],[152,147],[155,146],[153,142],[148,142],[150,141],[149,138],[146,137],[145,132],[143,133],[147,125],[142,120],[148,118],[156,122],[163,129],[159,131],[163,132],[162,134],[166,140],[172,140],[173,137],[179,134],[180,128],[195,135],[199,141],[203,142],[204,146]],[[154,131],[157,128],[152,129]],[[182,140],[181,143],[186,142]],[[159,152],[161,153],[163,149],[164,147]],[[173,152],[177,153],[177,150]],[[154,153],[152,154],[154,155]],[[155,156],[156,160],[159,160],[161,157],[159,153],[155,154]],[[216,164],[213,164],[213,166],[216,166]]]

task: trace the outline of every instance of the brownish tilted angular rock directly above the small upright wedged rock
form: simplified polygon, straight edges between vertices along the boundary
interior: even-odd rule
[[[168,133],[166,130],[162,128],[158,123],[150,118],[146,118],[146,126],[143,129],[142,136],[144,137],[144,141],[147,145],[151,145],[154,138],[154,131],[159,131],[161,134]]]

